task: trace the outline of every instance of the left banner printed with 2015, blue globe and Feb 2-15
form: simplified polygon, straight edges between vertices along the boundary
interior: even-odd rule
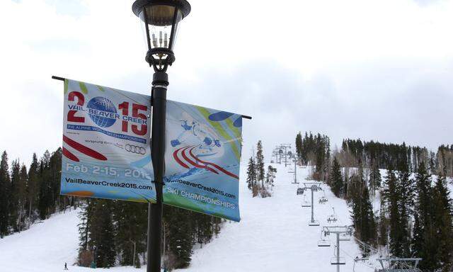
[[[155,201],[150,96],[64,80],[61,193]]]

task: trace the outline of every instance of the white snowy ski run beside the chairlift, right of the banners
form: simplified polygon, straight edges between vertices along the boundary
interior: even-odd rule
[[[267,271],[336,271],[331,265],[335,237],[331,237],[330,247],[318,247],[323,225],[350,225],[350,212],[345,200],[336,198],[326,185],[326,204],[318,200],[322,191],[314,193],[314,219],[319,227],[309,227],[310,208],[302,208],[303,196],[297,196],[297,184],[293,184],[293,165],[271,164],[277,168],[277,177],[273,196],[270,198],[252,198],[246,184],[245,166],[241,169],[240,208],[241,222],[230,222],[222,228],[217,239],[197,249],[187,272],[267,272]],[[267,167],[267,166],[266,166]],[[309,168],[297,169],[299,186],[303,186]],[[306,193],[310,200],[311,193]],[[328,224],[327,218],[335,208],[338,215],[336,224]],[[346,258],[346,264],[340,271],[352,271],[352,258],[360,256],[357,244],[352,241],[340,242],[340,256]],[[355,271],[373,271],[357,263]]]

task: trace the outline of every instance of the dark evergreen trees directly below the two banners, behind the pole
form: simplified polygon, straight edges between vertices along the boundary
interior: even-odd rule
[[[79,217],[80,266],[139,268],[147,263],[147,203],[86,199]],[[168,271],[187,267],[194,246],[209,243],[224,221],[164,205],[163,266]]]

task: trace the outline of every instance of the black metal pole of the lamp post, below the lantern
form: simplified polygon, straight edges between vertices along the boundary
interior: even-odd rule
[[[161,271],[161,233],[163,212],[163,186],[165,172],[165,120],[168,75],[154,72],[151,90],[152,128],[151,158],[154,168],[156,203],[148,206],[147,272]]]

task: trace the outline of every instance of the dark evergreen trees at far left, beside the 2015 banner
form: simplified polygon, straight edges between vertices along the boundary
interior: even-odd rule
[[[36,220],[76,205],[76,199],[59,195],[62,149],[33,154],[30,166],[19,159],[8,164],[4,151],[0,160],[0,238],[28,229]]]

